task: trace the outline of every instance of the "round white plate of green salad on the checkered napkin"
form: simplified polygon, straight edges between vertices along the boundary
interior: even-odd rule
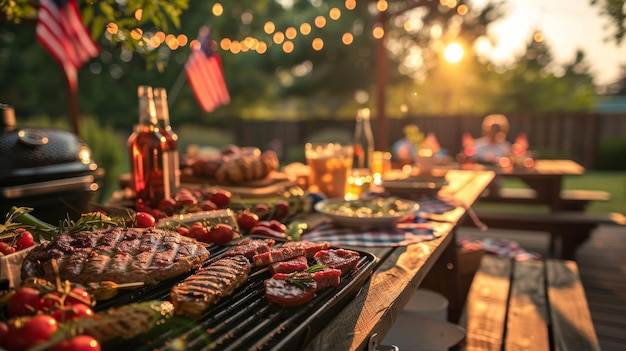
[[[384,201],[386,205],[393,204],[394,207],[399,207],[401,210],[393,213],[381,210],[373,214],[360,211],[360,209],[365,207],[379,208],[381,203],[376,201]],[[354,211],[351,212],[348,211],[348,209],[353,209]],[[350,201],[343,199],[327,199],[315,204],[315,210],[330,217],[333,223],[358,229],[392,228],[396,223],[413,215],[418,209],[419,205],[417,202],[397,197]]]

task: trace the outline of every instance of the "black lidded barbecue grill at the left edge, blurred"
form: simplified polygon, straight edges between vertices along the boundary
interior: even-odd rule
[[[65,130],[16,127],[10,106],[0,104],[0,113],[0,213],[31,207],[55,223],[88,212],[103,176],[89,146]]]

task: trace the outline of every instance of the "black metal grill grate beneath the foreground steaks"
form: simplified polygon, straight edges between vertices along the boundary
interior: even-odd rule
[[[211,258],[222,258],[225,247],[210,247]],[[312,301],[295,307],[282,307],[265,298],[264,281],[271,273],[253,267],[248,281],[233,294],[209,308],[196,321],[183,317],[170,318],[149,333],[131,340],[105,342],[103,350],[296,350],[309,342],[352,300],[369,279],[376,257],[368,252],[361,255],[357,269],[344,274],[341,284],[318,293]],[[96,310],[127,303],[167,300],[170,289],[185,277],[162,282],[157,286],[120,293],[103,301]]]

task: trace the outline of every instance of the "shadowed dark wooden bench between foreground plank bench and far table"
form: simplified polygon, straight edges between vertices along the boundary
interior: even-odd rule
[[[555,253],[560,241],[560,258],[573,260],[578,246],[583,244],[599,225],[626,226],[626,217],[620,213],[594,213],[580,211],[562,212],[509,212],[501,210],[475,210],[480,221],[490,228],[525,230],[550,233],[550,252]],[[462,225],[474,225],[464,219]]]

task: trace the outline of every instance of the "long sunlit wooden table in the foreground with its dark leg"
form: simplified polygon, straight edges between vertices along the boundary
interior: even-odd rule
[[[459,206],[442,215],[443,234],[435,240],[406,247],[355,249],[374,253],[379,262],[361,292],[332,319],[305,347],[305,350],[366,350],[378,336],[378,342],[395,322],[415,290],[430,274],[429,288],[444,294],[449,302],[451,320],[460,313],[456,261],[455,229],[494,177],[492,171],[450,170],[449,185],[441,191],[453,196]],[[374,336],[374,338],[373,338]]]

